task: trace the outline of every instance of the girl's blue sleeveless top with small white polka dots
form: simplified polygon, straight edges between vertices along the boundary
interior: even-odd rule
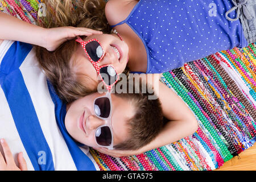
[[[234,6],[230,1],[141,0],[118,24],[127,23],[144,43],[146,73],[163,73],[218,51],[247,46],[240,20],[225,18]],[[236,12],[229,17],[236,17]]]

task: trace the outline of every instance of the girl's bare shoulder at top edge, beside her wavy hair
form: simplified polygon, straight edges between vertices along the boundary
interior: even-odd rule
[[[105,7],[109,24],[114,25],[125,20],[137,3],[136,0],[109,0]]]

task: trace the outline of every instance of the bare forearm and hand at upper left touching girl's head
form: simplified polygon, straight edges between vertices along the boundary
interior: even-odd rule
[[[63,42],[79,35],[102,34],[89,28],[58,27],[43,28],[24,22],[14,16],[0,11],[1,31],[0,39],[15,40],[41,46],[48,51],[54,51]]]

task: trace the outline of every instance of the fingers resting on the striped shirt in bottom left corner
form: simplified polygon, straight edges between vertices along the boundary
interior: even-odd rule
[[[11,150],[4,139],[1,139],[3,155],[0,152],[0,171],[27,171],[27,163],[22,152],[18,154],[19,167],[16,166]]]

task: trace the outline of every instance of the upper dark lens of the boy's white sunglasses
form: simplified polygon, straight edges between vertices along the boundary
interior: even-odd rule
[[[98,117],[108,118],[110,115],[110,101],[108,97],[97,98],[94,102],[94,111]]]

